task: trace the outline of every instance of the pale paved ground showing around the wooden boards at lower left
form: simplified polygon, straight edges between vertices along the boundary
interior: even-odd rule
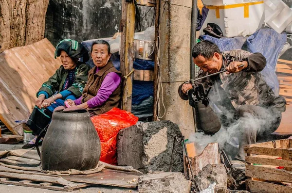
[[[18,145],[0,144],[0,151],[20,149],[22,145],[23,144]],[[138,193],[138,191],[134,189],[112,188],[100,185],[82,188],[70,193],[99,193],[99,191],[100,193],[129,193],[129,192]],[[68,192],[0,184],[0,193],[68,193]]]

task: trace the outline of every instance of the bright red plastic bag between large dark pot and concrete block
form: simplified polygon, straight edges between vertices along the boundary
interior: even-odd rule
[[[138,117],[118,108],[91,117],[101,142],[100,161],[117,164],[117,135],[121,129],[135,125]]]

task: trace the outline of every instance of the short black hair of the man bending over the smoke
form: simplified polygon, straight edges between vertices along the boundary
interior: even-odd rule
[[[209,41],[201,41],[196,44],[192,51],[193,58],[197,58],[199,55],[202,55],[206,60],[209,60],[213,57],[214,53],[221,53],[218,46]]]

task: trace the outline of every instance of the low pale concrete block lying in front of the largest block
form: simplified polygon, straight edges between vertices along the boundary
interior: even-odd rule
[[[165,172],[138,178],[139,193],[189,193],[191,181],[182,173]]]

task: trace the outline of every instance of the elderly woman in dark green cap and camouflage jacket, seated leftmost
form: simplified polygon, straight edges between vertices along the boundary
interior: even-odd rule
[[[26,123],[36,137],[23,145],[24,149],[35,147],[37,136],[49,125],[54,109],[63,106],[67,99],[79,98],[87,82],[91,68],[78,61],[81,57],[83,62],[89,60],[88,50],[82,44],[71,39],[62,40],[56,46],[56,57],[60,57],[62,65],[37,92],[36,106]]]

